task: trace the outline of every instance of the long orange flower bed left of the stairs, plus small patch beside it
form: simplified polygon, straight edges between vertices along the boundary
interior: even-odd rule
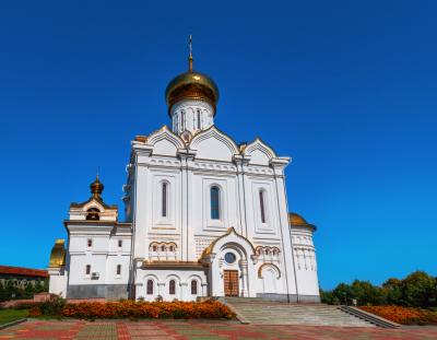
[[[224,318],[232,319],[235,314],[224,304],[209,300],[205,302],[84,302],[67,304],[61,309],[64,317],[74,318]],[[31,309],[29,316],[45,315],[35,306]]]

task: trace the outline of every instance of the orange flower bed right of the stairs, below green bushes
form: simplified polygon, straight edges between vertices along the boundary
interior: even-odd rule
[[[401,325],[437,325],[437,312],[401,306],[361,306],[359,308]]]

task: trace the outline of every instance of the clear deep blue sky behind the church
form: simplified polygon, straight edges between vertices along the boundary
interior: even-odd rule
[[[3,1],[0,263],[44,268],[72,201],[121,207],[130,141],[168,124],[187,68],[216,125],[290,155],[292,211],[318,225],[324,289],[437,274],[434,1]]]

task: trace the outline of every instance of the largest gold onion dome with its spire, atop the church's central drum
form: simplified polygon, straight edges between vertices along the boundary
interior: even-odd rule
[[[168,105],[168,114],[172,106],[182,99],[198,99],[210,103],[214,109],[218,102],[218,87],[206,74],[196,72],[192,69],[192,52],[190,37],[190,55],[188,57],[188,72],[173,79],[165,90],[165,101]]]

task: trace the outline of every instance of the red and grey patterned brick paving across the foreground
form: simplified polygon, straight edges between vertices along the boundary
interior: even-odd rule
[[[296,339],[296,340],[437,340],[437,327],[403,329],[338,328],[308,326],[258,326],[231,321],[39,321],[32,320],[0,330],[0,339],[128,340],[128,339]]]

